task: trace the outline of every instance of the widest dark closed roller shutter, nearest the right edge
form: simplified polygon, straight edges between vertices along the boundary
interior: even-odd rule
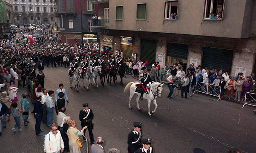
[[[202,68],[215,68],[218,71],[231,71],[233,61],[233,50],[219,48],[203,48]]]

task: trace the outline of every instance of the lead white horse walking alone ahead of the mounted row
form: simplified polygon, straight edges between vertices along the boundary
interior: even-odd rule
[[[124,93],[127,92],[130,89],[130,96],[129,96],[129,109],[131,108],[131,99],[133,97],[133,95],[135,94],[135,89],[137,88],[135,85],[137,85],[139,82],[129,82],[125,88],[124,88]],[[157,97],[161,97],[161,92],[163,90],[163,84],[159,83],[159,82],[154,82],[152,83],[149,87],[148,87],[148,92],[144,93],[144,99],[147,99],[147,106],[148,106],[148,115],[150,117],[152,117],[152,114],[155,113],[156,108],[157,108],[157,103],[156,103],[156,98]],[[136,102],[137,102],[137,108],[139,111],[141,111],[141,108],[139,106],[139,99],[141,94],[136,93],[137,94],[137,98],[136,98]],[[155,105],[155,109],[153,111],[151,111],[150,113],[150,104],[151,102],[154,103]]]

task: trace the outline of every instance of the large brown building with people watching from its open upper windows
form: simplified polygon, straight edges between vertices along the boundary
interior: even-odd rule
[[[254,0],[96,0],[101,48],[125,57],[180,62],[229,71],[256,71]],[[97,22],[98,23],[98,22]]]

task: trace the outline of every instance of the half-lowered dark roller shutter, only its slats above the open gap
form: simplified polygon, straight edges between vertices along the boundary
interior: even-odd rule
[[[188,45],[167,43],[167,56],[187,59]]]

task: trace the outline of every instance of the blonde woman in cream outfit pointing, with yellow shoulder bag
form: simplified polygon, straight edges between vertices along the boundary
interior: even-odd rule
[[[69,129],[67,130],[67,135],[69,137],[69,150],[70,153],[81,153],[80,148],[81,140],[79,139],[79,136],[83,135],[83,130],[87,128],[87,126],[83,127],[82,130],[78,130],[75,126],[74,120],[69,120]]]

